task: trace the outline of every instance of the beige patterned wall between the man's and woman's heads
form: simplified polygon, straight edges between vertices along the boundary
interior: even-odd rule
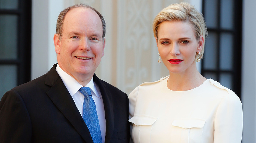
[[[65,0],[65,7],[86,3],[96,8],[106,21],[105,55],[96,74],[129,94],[142,82],[169,74],[158,63],[152,22],[160,10],[182,0]]]

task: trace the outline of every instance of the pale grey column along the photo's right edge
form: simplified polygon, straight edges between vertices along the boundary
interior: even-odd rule
[[[242,105],[243,143],[256,143],[256,1],[243,0]]]

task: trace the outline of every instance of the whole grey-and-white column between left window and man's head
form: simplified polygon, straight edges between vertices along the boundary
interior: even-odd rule
[[[64,0],[32,0],[31,79],[45,74],[57,63],[53,36]]]

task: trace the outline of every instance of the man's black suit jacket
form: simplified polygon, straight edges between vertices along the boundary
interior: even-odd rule
[[[75,102],[55,64],[45,75],[6,92],[0,102],[0,142],[93,143]],[[105,109],[106,143],[129,142],[129,100],[116,87],[100,80]]]

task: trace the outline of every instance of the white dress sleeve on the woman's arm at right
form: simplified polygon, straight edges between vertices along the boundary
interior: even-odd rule
[[[232,92],[219,104],[214,119],[214,143],[241,143],[243,130],[242,103]]]

